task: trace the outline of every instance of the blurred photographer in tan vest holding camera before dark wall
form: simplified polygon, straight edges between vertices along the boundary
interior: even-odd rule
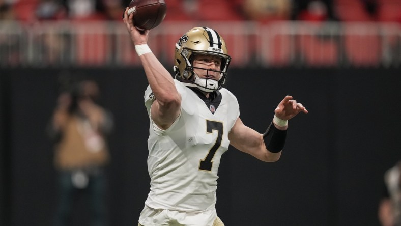
[[[107,225],[105,166],[109,162],[106,135],[113,127],[111,114],[96,104],[99,88],[82,81],[62,92],[54,110],[49,134],[55,141],[59,204],[55,225],[71,225],[76,195],[89,196],[91,225]]]

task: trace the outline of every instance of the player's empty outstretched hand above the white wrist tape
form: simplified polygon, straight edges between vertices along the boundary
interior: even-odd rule
[[[274,114],[282,120],[292,119],[294,116],[298,115],[299,112],[307,114],[308,110],[306,110],[301,103],[297,103],[296,100],[293,100],[292,96],[285,96],[274,110]]]

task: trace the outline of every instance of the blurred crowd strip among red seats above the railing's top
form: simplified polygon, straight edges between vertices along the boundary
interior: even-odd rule
[[[0,19],[120,20],[131,0],[0,0]],[[398,0],[165,0],[165,20],[401,22]]]

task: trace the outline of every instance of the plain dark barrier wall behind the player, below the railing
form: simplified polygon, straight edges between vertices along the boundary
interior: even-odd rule
[[[147,81],[141,69],[2,69],[1,225],[50,225],[52,146],[45,127],[61,75],[92,78],[116,129],[110,137],[112,225],[136,225],[149,191]],[[285,95],[309,114],[290,121],[278,162],[231,148],[219,169],[217,212],[236,225],[379,225],[384,171],[401,159],[401,79],[385,69],[231,69],[242,121],[264,132]],[[85,218],[83,206],[76,206]],[[81,224],[85,225],[83,220]]]

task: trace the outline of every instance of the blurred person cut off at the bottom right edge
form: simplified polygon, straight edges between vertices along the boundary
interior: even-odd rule
[[[382,226],[401,225],[401,161],[384,174],[384,189],[378,216]]]

